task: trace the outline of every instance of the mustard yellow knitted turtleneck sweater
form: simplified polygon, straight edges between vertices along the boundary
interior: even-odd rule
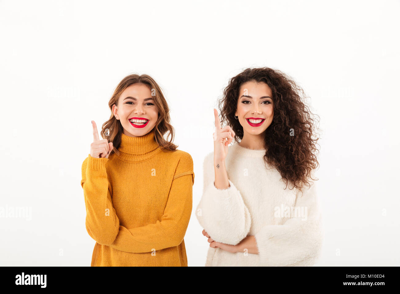
[[[192,157],[161,150],[154,132],[122,134],[118,150],[82,163],[86,230],[96,241],[91,266],[188,266]]]

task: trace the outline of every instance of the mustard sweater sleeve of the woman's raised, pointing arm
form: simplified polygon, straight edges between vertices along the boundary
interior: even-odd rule
[[[108,158],[94,158],[89,154],[82,163],[80,183],[86,205],[86,230],[99,244],[112,242],[120,225],[112,206],[106,162]]]

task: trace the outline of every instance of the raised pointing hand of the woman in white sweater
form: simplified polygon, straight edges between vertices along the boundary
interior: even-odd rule
[[[221,128],[220,120],[218,118],[218,111],[215,108],[214,116],[215,132],[212,134],[214,137],[214,161],[223,161],[228,154],[228,145],[233,141],[235,132],[230,126]]]

